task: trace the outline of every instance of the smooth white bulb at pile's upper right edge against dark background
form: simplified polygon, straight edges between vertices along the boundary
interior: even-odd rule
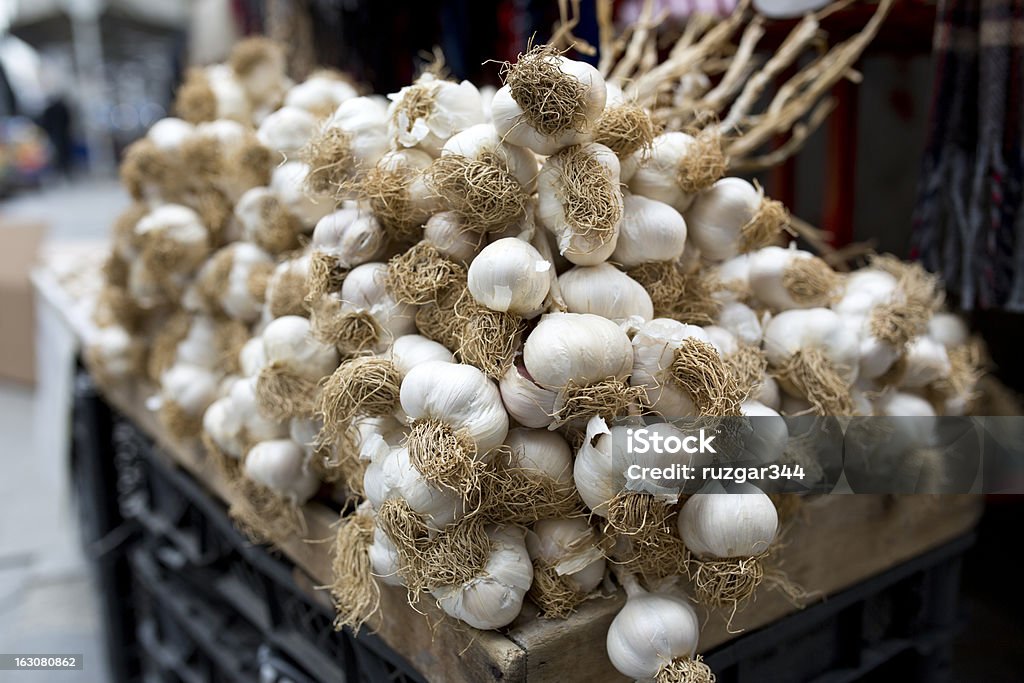
[[[700,253],[724,261],[739,253],[742,227],[761,208],[761,193],[742,178],[722,178],[693,200],[684,216]]]

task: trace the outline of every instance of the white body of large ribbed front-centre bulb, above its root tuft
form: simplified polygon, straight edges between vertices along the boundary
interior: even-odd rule
[[[411,420],[438,420],[457,431],[465,429],[478,458],[508,434],[498,387],[473,366],[437,360],[416,366],[402,379],[399,397]]]

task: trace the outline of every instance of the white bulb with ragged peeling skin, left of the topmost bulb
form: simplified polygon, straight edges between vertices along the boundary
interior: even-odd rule
[[[483,123],[480,92],[469,81],[454,83],[430,72],[413,85],[388,95],[392,137],[403,147],[437,157],[450,137]]]

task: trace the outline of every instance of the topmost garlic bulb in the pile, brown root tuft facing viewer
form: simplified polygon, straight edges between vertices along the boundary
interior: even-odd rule
[[[498,89],[490,100],[490,116],[499,134],[512,144],[528,147],[539,155],[552,155],[562,147],[589,139],[593,126],[604,111],[607,98],[604,79],[600,73],[584,61],[575,61],[558,54],[522,55],[520,61],[539,59],[557,69],[553,74],[564,79],[569,84],[575,84],[578,100],[571,102],[571,109],[560,112],[561,117],[552,117],[551,112],[542,109],[547,103],[545,92],[536,92],[536,99],[518,102],[515,99],[518,89],[513,89],[512,80],[509,85]],[[512,67],[514,71],[517,65]],[[553,71],[553,70],[552,70]],[[510,72],[510,79],[514,78]],[[526,92],[536,91],[542,86],[523,83]],[[528,106],[524,111],[523,105]],[[568,116],[564,116],[568,115]]]

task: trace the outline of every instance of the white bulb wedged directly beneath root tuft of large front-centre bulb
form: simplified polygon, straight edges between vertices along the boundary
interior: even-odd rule
[[[380,508],[387,500],[403,500],[434,530],[440,530],[462,517],[462,498],[424,480],[410,462],[409,449],[390,447],[377,436],[371,437],[364,445],[361,455],[367,454],[371,462],[362,477],[362,487],[374,509]]]

